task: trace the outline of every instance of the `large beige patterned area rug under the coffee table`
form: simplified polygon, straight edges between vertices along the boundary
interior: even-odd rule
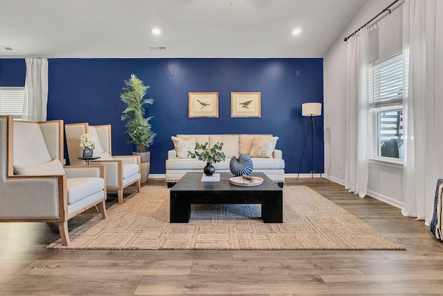
[[[260,204],[192,205],[190,223],[169,223],[169,189],[145,186],[124,204],[70,232],[71,246],[105,250],[404,250],[307,186],[283,189],[283,223],[263,223]]]

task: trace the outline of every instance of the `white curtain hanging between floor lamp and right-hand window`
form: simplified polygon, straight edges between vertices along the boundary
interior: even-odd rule
[[[369,30],[347,42],[347,134],[345,188],[364,198],[368,191],[368,52]]]

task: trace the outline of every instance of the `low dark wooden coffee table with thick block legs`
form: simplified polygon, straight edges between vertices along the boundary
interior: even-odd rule
[[[170,189],[170,223],[188,223],[191,204],[262,204],[264,223],[283,223],[283,190],[264,173],[259,186],[230,184],[231,173],[220,173],[219,182],[201,182],[203,173],[186,173]]]

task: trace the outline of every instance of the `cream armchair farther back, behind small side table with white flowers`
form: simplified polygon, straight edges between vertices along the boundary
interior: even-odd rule
[[[106,171],[107,190],[116,190],[118,203],[123,204],[123,189],[132,184],[136,184],[137,192],[140,192],[140,156],[120,155],[111,153],[111,125],[89,125],[88,123],[70,123],[64,125],[66,134],[66,146],[68,147],[69,163],[83,164],[82,148],[80,147],[80,136],[91,134],[96,139],[94,156],[100,159],[94,160],[91,164],[102,164]]]

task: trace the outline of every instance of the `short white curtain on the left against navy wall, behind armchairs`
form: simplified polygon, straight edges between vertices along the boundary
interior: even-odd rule
[[[25,58],[24,121],[46,121],[48,105],[48,59]]]

